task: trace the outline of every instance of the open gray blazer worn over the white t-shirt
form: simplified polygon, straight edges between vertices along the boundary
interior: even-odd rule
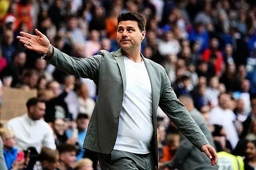
[[[164,68],[142,55],[141,57],[146,65],[152,87],[154,133],[151,150],[155,165],[158,166],[156,136],[158,106],[198,149],[208,141],[191,118],[186,107],[177,99]],[[90,78],[94,81],[98,88],[98,99],[88,125],[83,148],[104,154],[111,153],[116,143],[120,111],[126,88],[126,72],[121,49],[112,53],[101,50],[92,57],[78,59],[54,48],[54,55],[47,62],[68,74]]]

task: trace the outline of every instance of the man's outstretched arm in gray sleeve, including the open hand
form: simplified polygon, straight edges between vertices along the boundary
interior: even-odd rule
[[[48,38],[38,31],[38,29],[35,29],[35,32],[38,36],[20,32],[22,37],[18,36],[17,39],[19,39],[20,42],[24,44],[24,47],[29,50],[42,54],[48,52],[44,59],[60,70],[70,75],[96,80],[103,60],[103,55],[99,54],[87,59],[70,57],[55,47],[51,47]]]

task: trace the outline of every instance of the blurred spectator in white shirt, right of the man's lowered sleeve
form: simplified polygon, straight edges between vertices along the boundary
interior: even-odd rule
[[[228,109],[228,102],[230,100],[228,94],[220,94],[218,100],[219,105],[210,111],[210,124],[222,125],[228,131],[227,137],[232,145],[232,149],[234,149],[238,143],[238,132],[234,125],[236,115],[232,110]]]

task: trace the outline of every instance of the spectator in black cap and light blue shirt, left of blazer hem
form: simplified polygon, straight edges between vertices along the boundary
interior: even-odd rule
[[[77,116],[77,119],[76,119],[77,129],[73,128],[73,129],[68,129],[68,131],[66,131],[66,135],[67,135],[68,139],[70,139],[70,138],[76,139],[77,138],[77,140],[78,140],[78,144],[79,144],[81,151],[76,156],[77,160],[80,160],[84,156],[85,150],[82,149],[82,146],[84,144],[84,138],[86,135],[86,129],[88,127],[89,120],[90,119],[86,113],[79,113]]]

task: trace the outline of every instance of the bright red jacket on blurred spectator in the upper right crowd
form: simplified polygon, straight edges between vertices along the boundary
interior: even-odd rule
[[[203,61],[209,61],[210,60],[210,55],[212,54],[212,51],[210,49],[206,49],[204,53],[202,54],[202,60]],[[216,59],[214,66],[215,66],[215,74],[218,74],[221,70],[221,65],[223,62],[223,56],[222,53],[217,50],[216,55],[218,56],[218,59]]]

